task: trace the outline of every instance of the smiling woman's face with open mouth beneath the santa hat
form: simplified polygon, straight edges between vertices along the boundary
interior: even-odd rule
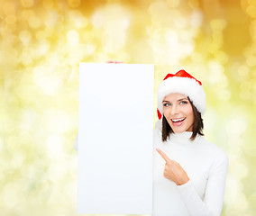
[[[163,115],[175,133],[192,131],[194,113],[187,96],[179,93],[168,94],[163,99]]]

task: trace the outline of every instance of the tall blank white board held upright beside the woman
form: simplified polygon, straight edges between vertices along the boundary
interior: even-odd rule
[[[153,65],[80,63],[78,213],[151,214]]]

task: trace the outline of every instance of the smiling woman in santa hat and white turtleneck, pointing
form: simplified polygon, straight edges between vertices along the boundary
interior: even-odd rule
[[[185,70],[158,89],[154,130],[153,216],[220,216],[228,157],[206,141],[202,84]]]

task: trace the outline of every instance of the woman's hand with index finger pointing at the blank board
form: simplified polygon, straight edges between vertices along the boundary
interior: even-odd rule
[[[165,160],[165,170],[163,175],[177,185],[185,184],[189,180],[185,170],[176,162],[171,160],[160,148],[157,148],[160,156]]]

